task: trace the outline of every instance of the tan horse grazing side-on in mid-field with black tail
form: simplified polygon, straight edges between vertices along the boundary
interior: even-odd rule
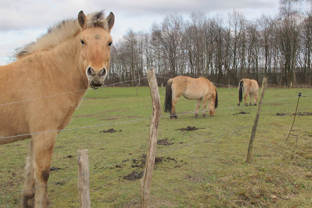
[[[179,76],[167,81],[164,112],[170,112],[171,119],[178,118],[175,112],[175,105],[181,95],[188,100],[197,100],[195,105],[195,118],[199,118],[198,109],[201,101],[203,101],[203,117],[207,117],[205,111],[207,101],[210,116],[215,115],[214,109],[218,107],[217,89],[207,78],[200,77],[194,79],[191,77]]]

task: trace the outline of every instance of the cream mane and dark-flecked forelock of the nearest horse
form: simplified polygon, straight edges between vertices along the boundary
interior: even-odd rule
[[[109,31],[104,10],[88,14],[86,18],[87,28],[103,27],[105,30]],[[81,27],[79,26],[77,19],[63,20],[54,26],[49,27],[48,31],[38,37],[35,42],[30,42],[23,46],[21,51],[16,55],[16,58],[21,59],[35,52],[53,48],[68,38],[73,38],[79,31],[81,31]]]

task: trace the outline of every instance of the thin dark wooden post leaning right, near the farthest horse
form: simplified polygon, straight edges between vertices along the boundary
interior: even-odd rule
[[[268,78],[264,77],[263,81],[262,81],[261,94],[260,94],[260,99],[259,99],[259,103],[258,103],[258,110],[257,110],[256,118],[254,119],[252,131],[251,131],[251,136],[250,136],[250,142],[249,142],[249,146],[248,146],[247,163],[251,162],[251,153],[252,153],[252,147],[253,147],[253,140],[254,140],[254,137],[256,135],[259,115],[260,115],[260,112],[261,112],[262,100],[263,100],[264,92],[265,92],[266,86],[267,86],[267,79]]]

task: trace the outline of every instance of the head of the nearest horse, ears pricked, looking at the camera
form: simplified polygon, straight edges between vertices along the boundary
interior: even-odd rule
[[[78,14],[78,23],[82,29],[78,35],[81,44],[80,58],[91,87],[104,85],[109,69],[110,47],[113,42],[110,30],[114,26],[114,20],[113,13],[105,19],[103,11],[87,17],[83,11]]]

